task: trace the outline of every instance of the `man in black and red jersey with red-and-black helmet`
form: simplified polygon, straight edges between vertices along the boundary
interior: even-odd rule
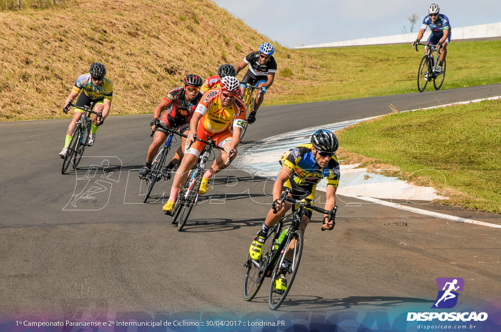
[[[148,148],[146,155],[146,162],[143,168],[139,171],[139,177],[144,178],[148,175],[151,169],[153,158],[158,152],[158,149],[167,138],[167,133],[161,127],[157,127],[158,123],[162,123],[169,128],[179,128],[178,131],[187,134],[189,132],[189,121],[196,105],[200,101],[202,94],[200,94],[200,86],[202,85],[202,78],[196,74],[189,74],[184,77],[184,86],[176,87],[171,90],[155,108],[153,112],[153,120],[150,122],[151,129],[155,130],[153,135],[153,142]],[[163,112],[161,118],[160,113]],[[174,168],[175,165],[183,157],[183,147],[186,138],[182,138],[181,146],[177,149],[176,154],[167,165],[167,169]],[[170,171],[167,172],[167,177],[170,178]]]

